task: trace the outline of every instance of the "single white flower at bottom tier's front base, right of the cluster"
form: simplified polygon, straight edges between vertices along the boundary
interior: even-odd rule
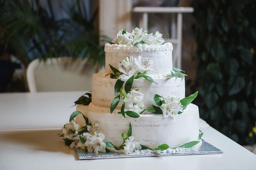
[[[125,142],[124,142],[124,152],[125,154],[139,154],[140,151],[139,149],[141,149],[141,146],[139,144],[139,142],[132,142],[132,140],[134,139],[133,136],[128,137]]]

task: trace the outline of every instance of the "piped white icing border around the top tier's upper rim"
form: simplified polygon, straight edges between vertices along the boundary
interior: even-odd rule
[[[162,45],[138,44],[137,46],[127,46],[123,44],[105,44],[105,52],[142,52],[142,51],[167,51],[173,50],[173,45],[168,42]]]

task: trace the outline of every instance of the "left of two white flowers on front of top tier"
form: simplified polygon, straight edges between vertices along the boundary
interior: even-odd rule
[[[130,56],[117,65],[119,71],[124,73],[119,76],[120,80],[127,81],[131,76],[136,76],[138,74],[138,66],[134,63],[133,60],[133,57]]]

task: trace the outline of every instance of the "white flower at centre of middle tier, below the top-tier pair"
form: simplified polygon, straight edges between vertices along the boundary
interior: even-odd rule
[[[125,96],[124,102],[126,103],[126,107],[142,109],[144,107],[144,103],[142,102],[143,98],[144,94],[137,92],[136,90],[132,90]]]

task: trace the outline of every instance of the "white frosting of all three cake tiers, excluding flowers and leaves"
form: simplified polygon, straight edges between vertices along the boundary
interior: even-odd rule
[[[112,142],[115,146],[123,143],[122,133],[127,134],[129,123],[132,125],[132,136],[135,142],[150,148],[161,144],[168,144],[171,148],[181,146],[187,142],[198,140],[199,136],[199,111],[198,106],[189,104],[182,114],[167,116],[156,114],[141,114],[139,118],[124,118],[118,111],[122,102],[111,114],[110,105],[115,98],[114,90],[117,79],[106,76],[112,73],[110,65],[117,68],[118,63],[130,55],[133,57],[147,57],[153,61],[154,72],[148,76],[157,83],[145,79],[134,79],[132,89],[144,94],[143,109],[155,105],[154,96],[176,95],[177,98],[185,97],[185,78],[170,78],[168,74],[173,70],[171,43],[163,45],[126,46],[106,44],[106,70],[93,75],[92,102],[89,106],[77,105],[76,110],[88,117],[91,123],[99,123],[100,133],[105,135],[105,142]],[[136,111],[136,110],[133,110]],[[138,113],[138,111],[136,111]],[[83,118],[80,116],[81,120]],[[79,120],[78,120],[79,121]]]

